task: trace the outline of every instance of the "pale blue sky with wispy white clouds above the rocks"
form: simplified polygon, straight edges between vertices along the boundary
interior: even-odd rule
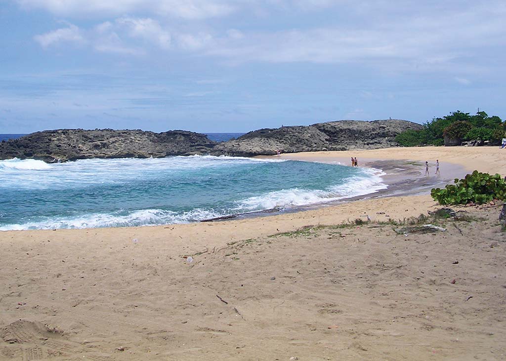
[[[503,0],[0,0],[0,133],[506,118]]]

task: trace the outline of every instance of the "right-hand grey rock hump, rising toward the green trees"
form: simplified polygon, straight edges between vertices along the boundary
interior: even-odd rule
[[[259,129],[236,140],[220,143],[212,154],[233,156],[273,155],[283,153],[378,149],[396,147],[395,136],[407,129],[421,129],[406,120],[340,120],[309,126],[284,126]]]

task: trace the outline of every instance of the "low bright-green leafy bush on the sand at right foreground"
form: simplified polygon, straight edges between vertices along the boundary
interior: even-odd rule
[[[506,199],[506,180],[499,174],[491,175],[475,170],[463,179],[455,178],[455,184],[445,188],[433,188],[432,198],[439,204],[486,203],[493,199]]]

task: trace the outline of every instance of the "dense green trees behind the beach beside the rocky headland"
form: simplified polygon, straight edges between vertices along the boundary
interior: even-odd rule
[[[459,110],[442,118],[434,118],[420,130],[406,130],[395,141],[404,147],[421,145],[442,146],[444,137],[463,141],[481,140],[498,142],[504,137],[506,122],[485,112],[475,115]]]

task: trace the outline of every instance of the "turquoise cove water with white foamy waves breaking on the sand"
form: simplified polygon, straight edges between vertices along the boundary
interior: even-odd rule
[[[184,223],[384,189],[372,169],[238,157],[0,161],[0,231]]]

